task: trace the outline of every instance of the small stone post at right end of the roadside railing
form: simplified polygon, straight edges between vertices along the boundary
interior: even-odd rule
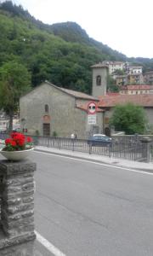
[[[146,162],[150,162],[150,137],[142,137],[140,140],[143,143],[143,151],[142,151],[142,158],[146,160]]]

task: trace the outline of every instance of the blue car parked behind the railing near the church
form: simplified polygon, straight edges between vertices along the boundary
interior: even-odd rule
[[[111,143],[111,137],[108,137],[105,134],[94,134],[94,136],[89,137],[88,139],[88,144],[91,146],[107,147],[111,146]]]

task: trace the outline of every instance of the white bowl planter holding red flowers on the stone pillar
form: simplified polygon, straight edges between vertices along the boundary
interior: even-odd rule
[[[0,150],[0,153],[8,160],[20,161],[26,159],[30,154],[33,148],[20,150],[20,151],[3,151]]]

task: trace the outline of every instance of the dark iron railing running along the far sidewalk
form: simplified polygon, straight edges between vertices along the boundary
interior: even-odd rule
[[[1,139],[5,139],[6,137],[8,137],[7,134],[0,134]],[[105,146],[92,146],[88,143],[88,140],[83,139],[41,136],[31,137],[33,138],[33,143],[36,146],[66,149],[88,154],[100,154],[127,160],[138,160],[144,162],[153,160],[152,137],[149,138],[138,135],[112,137],[112,143]]]

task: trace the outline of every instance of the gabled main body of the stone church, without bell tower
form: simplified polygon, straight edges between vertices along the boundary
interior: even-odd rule
[[[88,124],[88,103],[99,102],[94,96],[59,88],[48,81],[20,98],[20,126],[29,134],[40,136],[87,138],[102,132],[103,112],[96,114],[96,124]]]

